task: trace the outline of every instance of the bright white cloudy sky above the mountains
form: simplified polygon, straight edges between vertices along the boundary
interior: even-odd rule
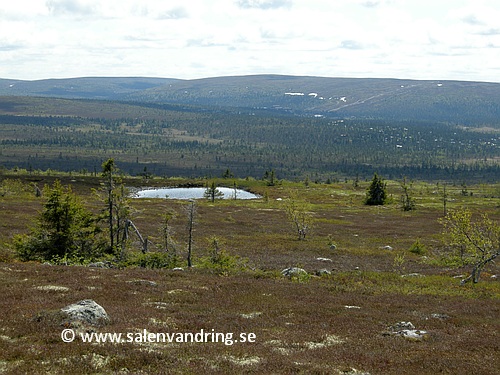
[[[246,74],[500,82],[498,0],[13,0],[0,78]]]

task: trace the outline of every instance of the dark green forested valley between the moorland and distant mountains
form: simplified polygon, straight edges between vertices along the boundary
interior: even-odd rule
[[[424,120],[327,118],[137,103],[7,98],[0,165],[94,173],[497,181],[499,132]]]

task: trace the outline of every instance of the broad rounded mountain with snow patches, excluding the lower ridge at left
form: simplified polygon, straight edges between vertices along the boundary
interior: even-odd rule
[[[303,116],[421,119],[464,125],[500,122],[498,83],[261,75],[177,81],[129,97]]]

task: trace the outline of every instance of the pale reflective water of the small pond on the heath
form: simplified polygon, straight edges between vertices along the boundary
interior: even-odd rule
[[[223,199],[234,199],[234,189],[219,187]],[[160,188],[144,189],[134,194],[135,198],[166,198],[166,199],[202,199],[206,188]],[[260,196],[248,191],[236,189],[236,199],[258,199]]]

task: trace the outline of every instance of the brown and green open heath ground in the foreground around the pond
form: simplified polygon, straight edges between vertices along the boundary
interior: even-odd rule
[[[92,192],[100,179],[88,174],[0,176],[0,373],[498,373],[500,266],[491,262],[478,283],[460,285],[471,268],[446,256],[443,183],[415,181],[416,207],[405,212],[401,181],[387,181],[388,204],[366,206],[369,181],[235,180],[261,198],[197,201],[191,268],[188,202],[131,199],[150,253],[164,251],[161,223],[172,213],[170,246],[182,270],[134,264],[142,249],[135,237],[119,261],[108,258],[112,268],[21,262],[13,236],[28,233],[46,201],[33,184],[56,178],[92,211],[103,208]],[[124,178],[132,190],[206,183]],[[446,210],[467,207],[498,223],[500,185],[446,189]],[[286,214],[291,196],[310,218],[303,240]],[[226,263],[210,262],[214,243]],[[293,267],[306,273],[282,274]],[[60,309],[88,299],[109,321],[65,325]],[[68,328],[76,338],[63,342]],[[121,342],[84,342],[92,333],[122,334]],[[163,342],[160,333],[171,336]],[[202,334],[186,342],[185,333]]]

